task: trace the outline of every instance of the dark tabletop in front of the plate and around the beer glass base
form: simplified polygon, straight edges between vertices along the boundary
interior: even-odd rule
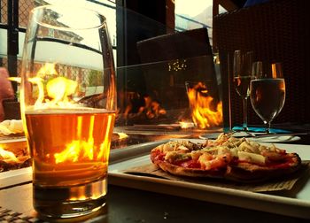
[[[310,144],[309,135],[299,136],[301,142]],[[125,186],[109,185],[106,207],[96,215],[90,216],[89,219],[77,219],[76,221],[104,223],[309,222],[305,219],[271,213],[272,206],[270,206],[270,213],[253,211],[180,196],[126,188]],[[17,216],[14,217],[15,219],[20,216],[25,221],[42,222],[42,220],[35,219],[36,213],[32,206],[32,184],[30,182],[0,189],[0,222],[11,222],[7,217],[9,214],[13,216],[15,214]]]

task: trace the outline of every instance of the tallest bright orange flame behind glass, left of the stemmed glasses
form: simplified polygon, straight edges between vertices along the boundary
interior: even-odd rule
[[[213,97],[209,96],[205,84],[198,82],[188,88],[191,118],[199,128],[218,127],[222,124],[222,104],[219,102],[213,109]]]

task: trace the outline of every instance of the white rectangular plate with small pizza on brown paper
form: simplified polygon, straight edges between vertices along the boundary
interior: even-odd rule
[[[309,149],[231,135],[172,139],[115,160],[109,183],[310,219]]]

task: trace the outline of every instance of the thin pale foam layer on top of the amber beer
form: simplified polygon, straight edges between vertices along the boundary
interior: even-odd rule
[[[28,107],[25,114],[83,114],[83,113],[115,113],[115,111],[88,107],[38,109]]]

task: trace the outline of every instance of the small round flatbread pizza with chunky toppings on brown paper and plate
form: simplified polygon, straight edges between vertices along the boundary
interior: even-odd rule
[[[298,171],[301,166],[297,153],[228,134],[203,143],[161,144],[151,150],[151,161],[161,170],[178,176],[242,182],[280,177]]]

